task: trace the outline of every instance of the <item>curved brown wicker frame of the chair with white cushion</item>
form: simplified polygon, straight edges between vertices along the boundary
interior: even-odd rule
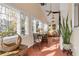
[[[13,51],[20,46],[21,41],[22,41],[22,38],[20,35],[18,35],[18,38],[16,39],[16,43],[6,44],[2,41],[0,51],[5,51],[5,52]]]

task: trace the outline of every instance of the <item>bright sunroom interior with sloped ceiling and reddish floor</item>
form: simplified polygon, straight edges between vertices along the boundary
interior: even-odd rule
[[[0,4],[0,55],[79,55],[78,9],[73,3]]]

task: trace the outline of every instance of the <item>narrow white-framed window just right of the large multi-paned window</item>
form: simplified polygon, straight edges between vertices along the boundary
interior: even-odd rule
[[[21,24],[21,34],[26,35],[29,34],[29,19],[28,16],[23,13],[20,14],[20,24]]]

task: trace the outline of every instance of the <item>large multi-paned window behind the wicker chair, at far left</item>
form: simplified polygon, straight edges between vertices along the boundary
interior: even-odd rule
[[[0,34],[12,36],[16,34],[16,10],[0,5]]]

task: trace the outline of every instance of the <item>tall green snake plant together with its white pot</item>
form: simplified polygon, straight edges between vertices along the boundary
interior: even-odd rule
[[[63,21],[60,27],[60,31],[61,31],[62,38],[63,38],[63,48],[66,50],[71,48],[70,38],[72,35],[72,20],[70,21],[68,20],[69,20],[68,16],[66,17],[66,19],[63,18]]]

